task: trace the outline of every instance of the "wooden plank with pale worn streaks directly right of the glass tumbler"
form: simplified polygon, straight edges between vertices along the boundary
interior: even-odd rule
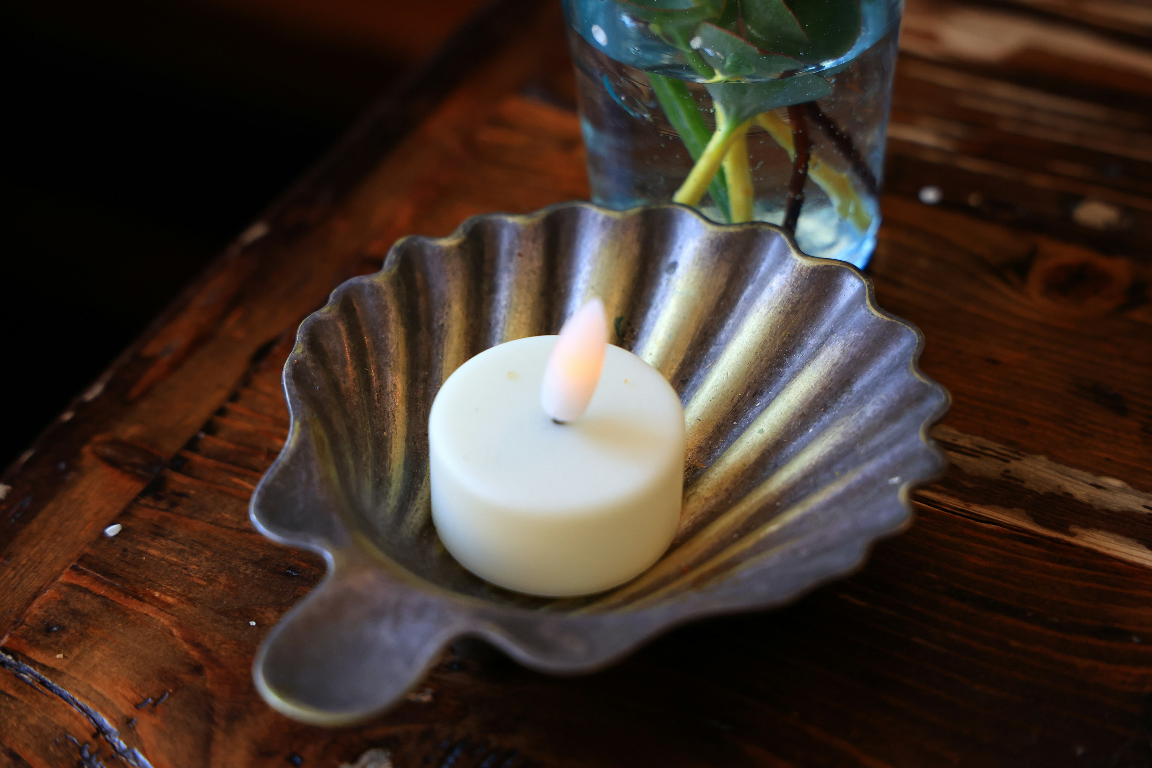
[[[937,185],[946,204],[985,218],[1142,256],[1152,231],[1152,105],[1107,78],[1078,84],[1017,59],[1047,46],[1083,79],[1099,74],[1106,52],[1109,77],[1146,79],[1152,51],[1116,46],[1081,26],[1049,33],[1052,26],[987,3],[909,3],[887,188],[915,195]]]

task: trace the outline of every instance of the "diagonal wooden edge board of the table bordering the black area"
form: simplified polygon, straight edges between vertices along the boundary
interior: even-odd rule
[[[522,9],[517,2],[508,7]],[[555,30],[556,13],[548,7],[529,15],[525,23]],[[480,32],[494,35],[487,28]],[[372,251],[377,220],[396,221],[389,230],[394,234],[386,235],[389,243],[407,231],[411,206],[420,199],[408,193],[412,180],[467,157],[471,150],[463,144],[464,137],[500,96],[531,76],[548,40],[547,35],[524,35],[476,68],[427,123],[435,135],[410,137],[382,166],[372,167],[387,147],[374,135],[366,146],[346,149],[321,165],[266,221],[242,235],[164,324],[70,409],[81,417],[99,409],[97,419],[69,419],[60,429],[50,431],[36,453],[5,474],[3,484],[10,489],[0,502],[0,563],[5,565],[0,638],[196,434],[235,389],[250,362],[266,352],[271,340],[323,304],[341,280],[363,271],[365,258],[379,258]],[[457,67],[464,63],[452,56],[447,61]],[[431,71],[446,76],[444,66],[444,61],[433,62]],[[369,127],[361,130],[389,116],[397,117],[386,109],[373,113]],[[408,113],[402,116],[407,119]],[[382,132],[391,134],[392,128]],[[338,192],[369,169],[373,175],[333,207]],[[455,216],[458,211],[446,208],[445,213]],[[181,362],[173,366],[169,358]],[[161,373],[156,374],[158,367]],[[146,386],[137,387],[141,381]],[[94,443],[109,441],[119,450],[93,451]],[[131,457],[127,463],[121,461],[126,456]],[[61,462],[68,469],[63,481],[58,469]]]

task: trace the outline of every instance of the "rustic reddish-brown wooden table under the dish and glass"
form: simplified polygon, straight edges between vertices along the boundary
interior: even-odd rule
[[[909,0],[869,272],[953,393],[953,464],[861,573],[588,677],[460,642],[362,728],[260,701],[256,646],[323,573],[248,522],[294,329],[401,235],[586,196],[554,6],[507,0],[400,84],[3,476],[0,766],[1150,765],[1136,0]]]

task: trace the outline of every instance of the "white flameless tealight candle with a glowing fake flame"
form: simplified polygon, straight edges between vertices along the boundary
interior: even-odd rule
[[[457,562],[493,584],[601,592],[672,542],[683,493],[680,398],[606,336],[597,301],[560,336],[477,355],[437,394],[432,520]]]

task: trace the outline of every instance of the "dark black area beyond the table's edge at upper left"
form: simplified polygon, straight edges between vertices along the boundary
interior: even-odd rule
[[[0,8],[0,470],[482,2]]]

